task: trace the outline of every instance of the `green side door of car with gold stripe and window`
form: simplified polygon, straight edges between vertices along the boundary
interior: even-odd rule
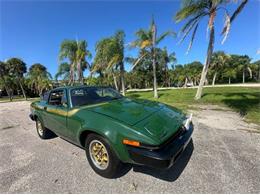
[[[66,137],[68,115],[66,89],[51,91],[44,110],[45,127],[61,137]]]

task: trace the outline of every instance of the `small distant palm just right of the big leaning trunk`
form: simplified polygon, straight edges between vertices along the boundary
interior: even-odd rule
[[[226,55],[223,51],[213,53],[210,64],[210,68],[214,71],[212,85],[215,85],[217,74],[225,66],[229,59],[230,56]]]

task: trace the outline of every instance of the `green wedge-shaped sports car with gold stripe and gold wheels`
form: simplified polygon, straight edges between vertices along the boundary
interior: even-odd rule
[[[108,87],[53,89],[31,104],[30,118],[40,138],[55,133],[83,148],[94,171],[107,178],[124,163],[169,168],[193,132],[191,116]]]

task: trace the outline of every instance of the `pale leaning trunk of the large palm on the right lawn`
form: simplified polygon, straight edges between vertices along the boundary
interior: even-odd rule
[[[203,85],[206,80],[206,76],[207,76],[207,72],[208,72],[208,68],[209,68],[209,64],[211,61],[211,56],[212,56],[212,52],[213,52],[213,48],[214,48],[214,39],[215,39],[215,30],[214,30],[214,21],[213,21],[212,27],[210,29],[210,39],[209,39],[209,45],[208,45],[208,51],[207,51],[206,64],[204,65],[202,73],[201,73],[200,84],[197,89],[195,100],[200,99],[201,95],[202,95]]]

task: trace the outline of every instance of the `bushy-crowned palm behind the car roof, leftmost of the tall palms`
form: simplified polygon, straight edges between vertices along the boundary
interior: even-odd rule
[[[69,85],[75,82],[75,70],[77,69],[78,82],[83,84],[83,69],[90,68],[86,57],[91,57],[90,52],[87,50],[86,41],[64,40],[60,46],[59,60],[67,59],[70,64],[70,79]]]

